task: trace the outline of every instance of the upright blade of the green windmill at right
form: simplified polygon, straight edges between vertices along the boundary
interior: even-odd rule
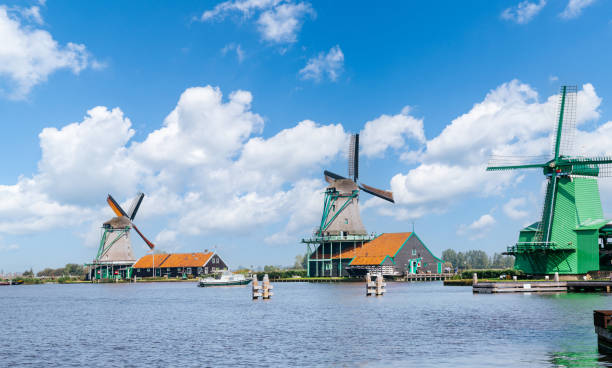
[[[557,120],[552,135],[552,154],[554,158],[572,154],[576,138],[577,97],[577,86],[561,87]]]

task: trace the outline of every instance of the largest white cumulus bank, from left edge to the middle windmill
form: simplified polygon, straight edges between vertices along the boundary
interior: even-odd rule
[[[106,193],[127,206],[136,190],[147,193],[140,220],[168,221],[155,237],[165,249],[178,234],[310,228],[304,221],[315,206],[298,203],[320,202],[324,184],[309,176],[343,151],[348,135],[340,124],[306,120],[264,138],[251,101],[246,91],[225,99],[219,88],[189,88],[142,141],[119,108],[95,107],[80,122],[43,129],[38,173],[0,186],[0,233],[83,226],[91,243],[95,224],[112,216]]]

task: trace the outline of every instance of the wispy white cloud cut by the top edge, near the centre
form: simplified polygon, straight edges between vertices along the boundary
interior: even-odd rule
[[[257,28],[263,40],[283,44],[297,41],[297,34],[304,19],[315,16],[308,2],[294,3],[290,0],[230,0],[217,4],[212,10],[202,13],[200,21],[223,19],[231,13],[241,13],[250,18],[259,14]]]

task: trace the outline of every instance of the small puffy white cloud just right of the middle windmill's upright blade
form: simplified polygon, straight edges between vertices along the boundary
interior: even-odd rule
[[[425,143],[423,119],[409,115],[406,106],[400,114],[381,115],[365,123],[360,134],[361,150],[365,156],[379,156],[388,148],[396,150],[406,147],[406,140],[413,139],[417,143]]]

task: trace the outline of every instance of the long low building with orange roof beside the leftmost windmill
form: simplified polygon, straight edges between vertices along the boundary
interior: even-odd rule
[[[197,277],[227,270],[227,265],[214,252],[171,253],[148,254],[140,258],[132,268],[136,277]]]

